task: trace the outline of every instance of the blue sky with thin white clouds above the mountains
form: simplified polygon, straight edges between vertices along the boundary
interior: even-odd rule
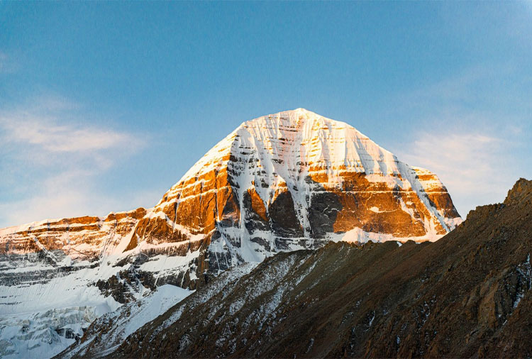
[[[0,227],[153,206],[241,122],[304,107],[460,214],[532,179],[532,3],[0,1]]]

